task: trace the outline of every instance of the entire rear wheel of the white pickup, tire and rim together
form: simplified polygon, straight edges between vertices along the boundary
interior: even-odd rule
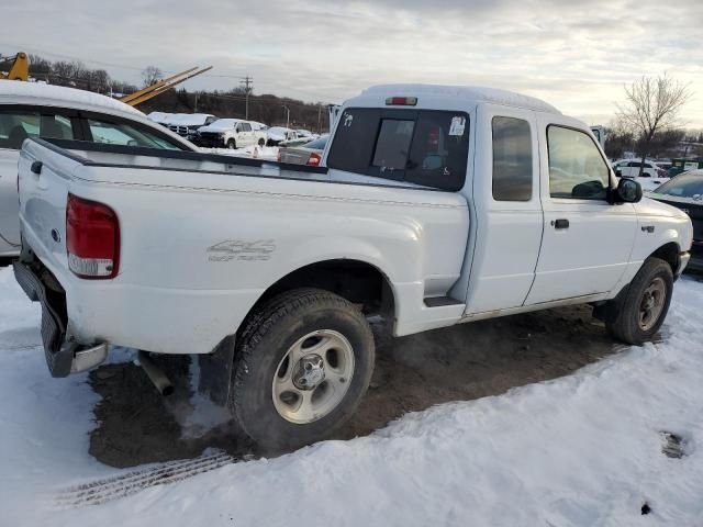
[[[354,413],[373,360],[373,336],[356,306],[322,290],[286,292],[244,325],[230,407],[260,446],[298,448]]]

